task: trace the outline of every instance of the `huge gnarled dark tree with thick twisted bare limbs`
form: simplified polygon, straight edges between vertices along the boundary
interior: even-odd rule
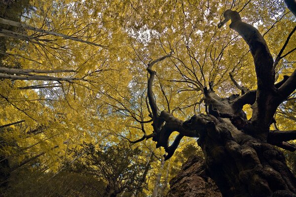
[[[296,139],[296,131],[270,131],[277,107],[296,89],[296,70],[291,76],[274,84],[275,66],[268,46],[259,31],[242,22],[240,14],[230,9],[224,12],[219,28],[229,20],[229,27],[239,33],[250,47],[257,75],[257,90],[242,90],[241,95],[219,97],[213,82],[209,88],[201,86],[207,114],[194,115],[187,121],[175,118],[163,110],[159,113],[153,94],[153,79],[156,63],[173,57],[172,50],[166,56],[148,64],[148,100],[153,123],[152,137],[156,147],[164,147],[169,159],[184,136],[199,137],[206,168],[223,196],[295,196],[296,178],[285,163],[281,151],[274,145],[295,151],[287,141]],[[290,52],[289,52],[290,53]],[[236,86],[238,84],[236,83]],[[247,119],[243,107],[252,105],[252,117]],[[173,131],[180,134],[169,146]]]

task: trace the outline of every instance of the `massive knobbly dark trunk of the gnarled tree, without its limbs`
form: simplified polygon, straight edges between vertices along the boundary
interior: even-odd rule
[[[209,125],[198,144],[206,169],[223,197],[295,196],[296,178],[281,151],[240,133],[227,119],[217,125]]]

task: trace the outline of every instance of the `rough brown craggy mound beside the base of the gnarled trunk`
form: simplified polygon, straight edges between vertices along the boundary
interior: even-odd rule
[[[205,173],[202,158],[192,157],[170,181],[167,197],[222,197],[215,182]]]

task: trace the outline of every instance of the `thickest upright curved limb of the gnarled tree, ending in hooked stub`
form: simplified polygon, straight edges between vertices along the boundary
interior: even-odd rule
[[[256,103],[253,105],[252,124],[258,131],[258,138],[266,140],[270,122],[278,105],[270,105],[275,96],[273,59],[268,46],[259,31],[247,23],[242,22],[238,12],[226,10],[225,20],[219,24],[222,27],[231,19],[230,28],[239,33],[250,47],[257,75]]]

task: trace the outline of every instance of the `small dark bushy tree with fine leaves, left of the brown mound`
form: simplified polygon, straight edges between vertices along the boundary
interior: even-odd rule
[[[74,149],[74,157],[79,156],[79,160],[70,164],[70,168],[106,181],[105,191],[101,193],[103,197],[116,197],[123,191],[141,190],[146,179],[143,173],[147,167],[140,158],[141,150],[128,142],[100,149],[93,144],[84,144],[80,151]]]

